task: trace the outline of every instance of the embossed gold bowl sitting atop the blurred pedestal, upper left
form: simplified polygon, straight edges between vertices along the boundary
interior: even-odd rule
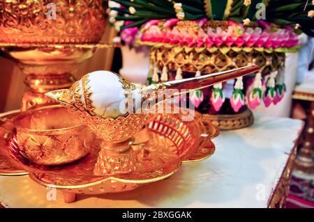
[[[0,2],[0,42],[98,43],[105,31],[107,0]]]

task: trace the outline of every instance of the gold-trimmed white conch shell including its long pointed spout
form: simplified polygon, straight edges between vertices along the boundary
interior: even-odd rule
[[[142,99],[156,97],[160,89],[176,89],[178,94],[187,93],[187,90],[205,88],[230,79],[257,72],[257,65],[248,65],[234,70],[227,70],[213,74],[205,74],[200,77],[167,81],[162,84],[142,86],[132,84],[114,72],[96,71],[86,74],[76,81],[70,89],[54,90],[46,93],[48,97],[63,102],[77,109],[87,111],[91,115],[102,118],[125,116],[127,113],[142,108]],[[153,96],[147,96],[155,93]],[[176,93],[172,93],[176,95]],[[165,99],[163,99],[165,100]],[[131,102],[131,104],[130,104]]]

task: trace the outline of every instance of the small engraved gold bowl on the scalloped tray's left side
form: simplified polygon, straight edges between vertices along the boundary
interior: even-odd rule
[[[94,134],[62,106],[43,106],[21,113],[13,124],[20,152],[35,164],[69,164],[86,156]]]

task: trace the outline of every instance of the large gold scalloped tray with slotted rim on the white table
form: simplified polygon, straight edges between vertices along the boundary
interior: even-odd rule
[[[38,166],[19,152],[13,129],[12,126],[8,127],[6,136],[0,138],[0,151],[3,153],[0,162],[3,160],[8,162],[13,166],[12,170],[21,169],[29,172],[31,179],[43,186],[54,186],[72,193],[89,194],[129,191],[141,184],[170,177],[182,163],[191,163],[210,157],[215,150],[211,138],[219,133],[210,122],[203,121],[199,113],[195,120],[190,122],[183,122],[180,114],[160,114],[154,121],[149,122],[146,135],[139,133],[135,136],[135,141],[140,141],[142,136],[149,138],[144,143],[132,146],[136,159],[135,171],[99,177],[94,175],[94,166],[100,141],[95,141],[87,157],[73,164],[54,167]],[[0,168],[1,174],[7,175]]]

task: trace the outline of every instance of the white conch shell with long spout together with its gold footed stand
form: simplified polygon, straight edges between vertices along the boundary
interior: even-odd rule
[[[102,139],[94,168],[96,175],[130,173],[135,167],[134,154],[130,149],[135,142],[134,134],[140,132],[156,113],[165,113],[163,100],[166,99],[164,94],[158,95],[160,92],[172,90],[172,95],[177,95],[173,91],[177,90],[179,94],[186,93],[186,90],[211,86],[257,69],[256,65],[248,65],[151,86],[130,83],[113,72],[96,71],[84,75],[69,89],[53,90],[45,95],[64,104]],[[184,92],[179,91],[181,89]],[[131,106],[130,111],[125,109],[128,104]]]

